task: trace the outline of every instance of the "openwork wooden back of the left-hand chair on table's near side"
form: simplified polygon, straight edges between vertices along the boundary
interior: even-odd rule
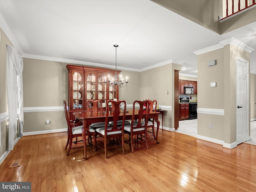
[[[109,105],[109,103],[112,103],[111,105]],[[120,110],[120,104],[124,103],[124,110]],[[112,108],[110,107],[112,106]],[[122,118],[122,125],[118,126],[118,120],[120,113],[124,113],[123,114],[123,118]],[[108,100],[106,103],[106,121],[105,121],[105,136],[107,136],[107,132],[114,132],[114,131],[120,131],[122,130],[122,134],[124,133],[124,123],[125,123],[125,115],[126,115],[126,101],[122,100],[122,101],[113,101],[113,100]],[[113,120],[111,119],[113,118]],[[112,124],[112,129],[108,129],[108,122],[113,121]]]

